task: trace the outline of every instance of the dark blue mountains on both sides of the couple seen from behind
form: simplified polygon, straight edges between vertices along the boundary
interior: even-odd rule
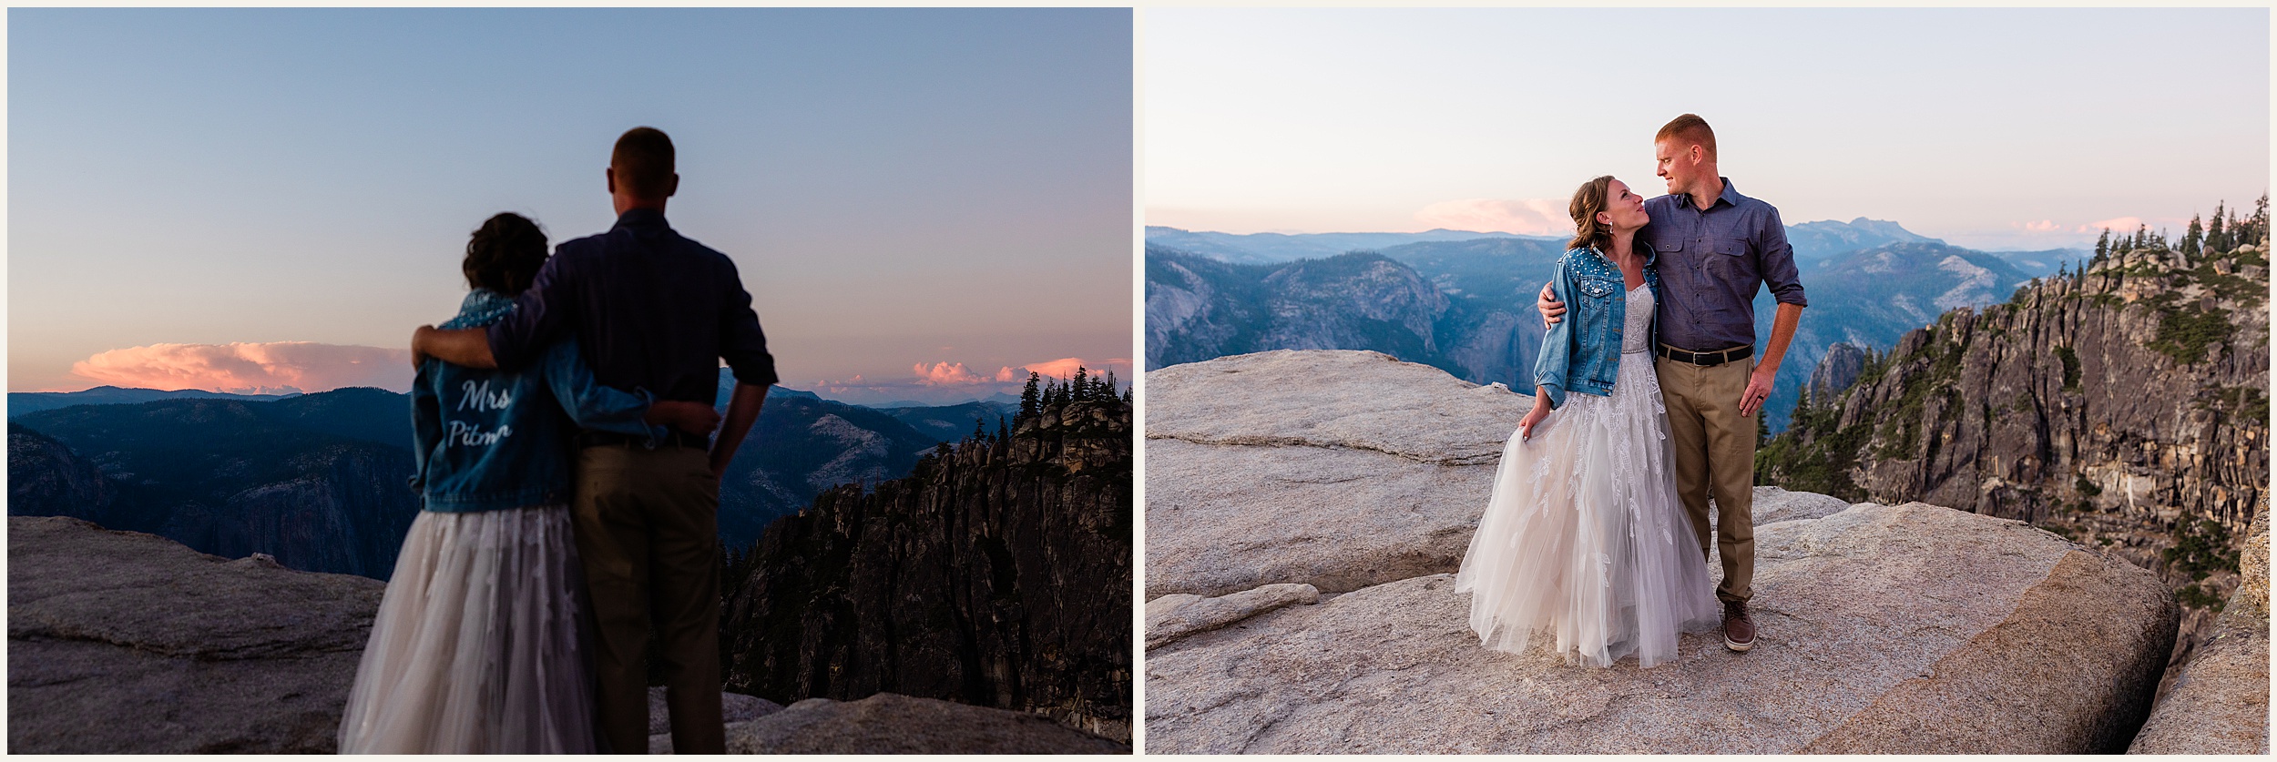
[[[751,544],[824,489],[899,478],[936,444],[1009,412],[870,409],[776,387],[729,464],[720,537]],[[419,512],[410,441],[410,400],[385,389],[9,394],[9,514],[385,580]]]

